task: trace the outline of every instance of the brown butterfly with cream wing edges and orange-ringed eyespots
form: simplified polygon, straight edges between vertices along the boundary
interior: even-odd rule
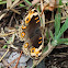
[[[22,23],[20,37],[24,41],[22,46],[23,53],[31,57],[39,57],[42,55],[42,31],[41,20],[36,9],[29,10],[24,22]]]

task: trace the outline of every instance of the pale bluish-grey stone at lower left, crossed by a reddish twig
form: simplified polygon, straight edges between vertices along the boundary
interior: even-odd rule
[[[7,59],[7,61],[10,64],[11,61],[13,61],[15,58],[18,58],[20,56],[20,53],[16,53],[16,52],[13,52],[9,58]],[[18,68],[19,67],[25,67],[26,66],[26,61],[29,61],[30,57],[29,56],[25,56],[22,54],[21,58],[20,58],[20,61],[19,61],[19,65],[18,65]],[[16,61],[14,64],[12,64],[12,67],[14,67],[16,64]]]

